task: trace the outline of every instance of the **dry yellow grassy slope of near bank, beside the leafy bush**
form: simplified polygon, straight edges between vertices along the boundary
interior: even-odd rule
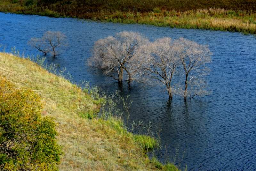
[[[0,79],[41,96],[43,116],[51,116],[63,154],[59,170],[178,170],[173,164],[149,160],[145,147],[153,138],[133,135],[120,119],[82,118],[99,111],[100,100],[80,87],[49,73],[28,59],[0,53]]]

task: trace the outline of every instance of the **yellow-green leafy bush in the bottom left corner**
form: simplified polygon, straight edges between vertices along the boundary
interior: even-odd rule
[[[36,93],[0,77],[0,170],[57,170],[55,123],[41,111]]]

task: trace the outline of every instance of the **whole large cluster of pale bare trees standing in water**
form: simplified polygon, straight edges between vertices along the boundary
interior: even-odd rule
[[[211,62],[207,45],[184,38],[164,37],[154,42],[139,33],[121,32],[95,42],[88,64],[119,83],[138,81],[166,87],[169,97],[208,93],[206,76]],[[124,74],[125,71],[125,74]]]

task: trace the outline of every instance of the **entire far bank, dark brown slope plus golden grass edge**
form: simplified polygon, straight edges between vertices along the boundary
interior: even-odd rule
[[[0,11],[256,34],[255,1],[2,0]]]

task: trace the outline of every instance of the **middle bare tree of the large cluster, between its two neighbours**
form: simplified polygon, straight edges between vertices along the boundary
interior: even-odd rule
[[[169,98],[172,99],[172,78],[179,63],[177,52],[172,48],[172,39],[164,37],[144,45],[140,48],[140,56],[144,63],[136,74],[138,81],[157,82],[167,88]],[[145,79],[148,79],[145,81]]]

